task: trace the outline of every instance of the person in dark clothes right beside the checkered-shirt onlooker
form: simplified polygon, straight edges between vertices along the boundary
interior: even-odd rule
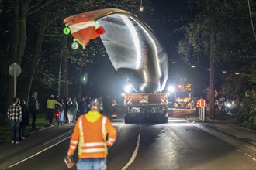
[[[26,132],[26,126],[29,125],[29,109],[26,107],[26,101],[21,101],[21,107],[22,107],[22,122],[20,122],[20,139],[26,139],[25,138],[25,132]]]

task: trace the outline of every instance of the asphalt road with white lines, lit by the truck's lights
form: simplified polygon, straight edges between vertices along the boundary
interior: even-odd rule
[[[255,162],[234,145],[180,118],[195,111],[171,111],[168,124],[123,124],[123,117],[113,119],[119,132],[109,148],[108,169],[255,169]],[[67,169],[63,157],[69,140],[8,169]]]

